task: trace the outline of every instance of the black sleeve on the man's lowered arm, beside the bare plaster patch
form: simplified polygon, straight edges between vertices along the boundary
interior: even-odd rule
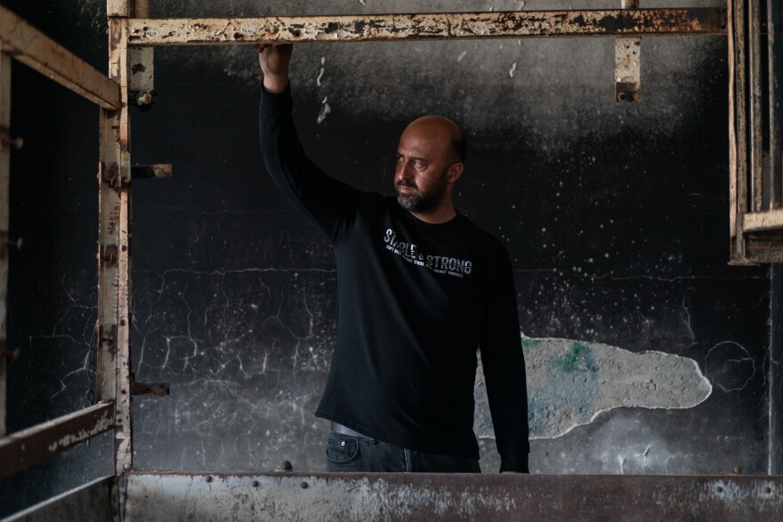
[[[529,472],[528,389],[516,286],[505,247],[490,289],[481,332],[481,365],[495,427],[500,471]]]

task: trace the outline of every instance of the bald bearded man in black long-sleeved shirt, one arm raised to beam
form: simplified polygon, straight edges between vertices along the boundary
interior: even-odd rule
[[[316,415],[328,471],[480,472],[477,348],[501,472],[528,472],[525,363],[505,246],[456,212],[464,136],[424,116],[400,137],[397,197],[335,181],[305,157],[291,114],[291,45],[259,45],[261,148],[278,188],[332,242],[337,342]]]

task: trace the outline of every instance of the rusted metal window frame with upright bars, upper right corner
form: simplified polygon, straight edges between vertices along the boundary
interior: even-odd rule
[[[768,0],[763,12],[762,1],[730,3],[729,227],[735,265],[783,262],[780,91],[770,88],[779,86],[781,76],[780,5]]]

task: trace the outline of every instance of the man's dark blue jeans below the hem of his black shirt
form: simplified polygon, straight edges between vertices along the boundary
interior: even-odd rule
[[[480,473],[478,459],[426,454],[363,435],[329,431],[327,471],[352,473]]]

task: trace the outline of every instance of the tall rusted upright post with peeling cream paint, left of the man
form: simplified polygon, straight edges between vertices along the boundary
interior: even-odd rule
[[[109,0],[107,9],[114,12],[122,7],[119,4]],[[118,475],[133,465],[129,313],[131,166],[125,18],[109,18],[109,78],[119,85],[122,107],[101,108],[98,397],[116,403],[115,472]]]

